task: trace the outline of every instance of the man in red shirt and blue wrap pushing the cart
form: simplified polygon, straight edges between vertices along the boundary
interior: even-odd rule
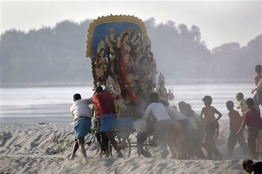
[[[97,106],[97,115],[100,118],[99,132],[101,134],[101,144],[99,157],[102,158],[102,151],[105,149],[107,139],[110,140],[113,147],[116,149],[117,157],[123,158],[120,148],[113,136],[115,132],[116,107],[113,97],[104,92],[102,86],[96,88],[96,94],[92,97]]]

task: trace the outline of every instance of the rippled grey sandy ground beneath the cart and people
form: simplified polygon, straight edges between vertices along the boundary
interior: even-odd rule
[[[218,149],[227,153],[229,120],[220,121]],[[135,135],[130,135],[131,140]],[[0,173],[239,173],[246,156],[236,144],[231,158],[222,161],[138,158],[132,150],[129,158],[94,158],[96,143],[85,145],[89,163],[79,151],[75,160],[67,159],[73,147],[73,125],[2,124],[0,133]]]

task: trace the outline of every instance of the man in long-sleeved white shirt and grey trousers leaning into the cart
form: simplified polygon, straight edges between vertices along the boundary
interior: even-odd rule
[[[168,116],[165,107],[162,103],[159,103],[159,94],[152,93],[150,95],[151,104],[147,106],[143,120],[147,120],[152,114],[156,118],[154,140],[156,144],[163,150],[162,158],[166,158],[169,154],[167,150],[167,136],[171,127],[171,119]]]

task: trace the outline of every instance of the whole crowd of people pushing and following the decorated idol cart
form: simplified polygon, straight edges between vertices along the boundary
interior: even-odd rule
[[[233,101],[227,101],[226,107],[229,111],[230,134],[228,138],[227,156],[231,157],[236,142],[239,143],[245,154],[250,154],[251,159],[257,160],[259,153],[262,157],[262,128],[259,105],[262,104],[260,65],[255,67],[257,73],[255,77],[256,92],[254,98],[244,99],[242,93],[236,94],[237,108],[241,108],[242,116],[234,110]],[[70,159],[74,159],[77,149],[80,149],[84,161],[87,162],[84,137],[91,128],[92,114],[89,105],[96,103],[97,116],[99,117],[101,136],[99,157],[102,158],[103,151],[106,153],[108,140],[116,149],[119,158],[123,158],[113,133],[115,132],[114,122],[116,120],[116,107],[111,95],[104,92],[102,86],[95,89],[92,98],[81,99],[80,94],[73,96],[74,104],[70,111],[74,116],[74,138],[75,143]],[[153,131],[155,143],[161,148],[161,157],[167,158],[169,150],[171,158],[176,159],[207,159],[221,160],[223,155],[217,149],[215,142],[219,136],[219,120],[222,114],[213,106],[212,97],[205,96],[202,101],[204,107],[200,115],[192,110],[189,103],[179,102],[179,108],[169,106],[165,100],[161,100],[158,93],[151,93],[151,103],[147,106],[146,112],[141,118],[136,118],[133,123],[137,132],[137,152],[140,155],[150,158],[151,154],[143,149],[144,141],[149,135],[149,130]],[[217,117],[216,117],[217,116]],[[247,129],[247,144],[244,132]],[[169,147],[169,150],[168,150]],[[202,148],[203,147],[203,148]],[[206,155],[202,149],[205,149]],[[108,152],[107,152],[108,153]],[[108,156],[108,155],[107,155]],[[248,168],[250,162],[243,163],[243,168]]]

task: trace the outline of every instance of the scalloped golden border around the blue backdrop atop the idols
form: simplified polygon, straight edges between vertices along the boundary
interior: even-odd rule
[[[132,16],[130,15],[110,15],[110,16],[98,17],[97,19],[94,19],[93,23],[90,24],[90,27],[88,29],[88,33],[89,33],[88,40],[86,40],[86,43],[88,45],[86,46],[85,56],[90,57],[92,54],[91,48],[92,48],[93,32],[99,24],[112,23],[112,22],[123,22],[123,21],[137,24],[142,30],[143,37],[147,36],[145,23],[143,23],[141,19],[133,15]]]

